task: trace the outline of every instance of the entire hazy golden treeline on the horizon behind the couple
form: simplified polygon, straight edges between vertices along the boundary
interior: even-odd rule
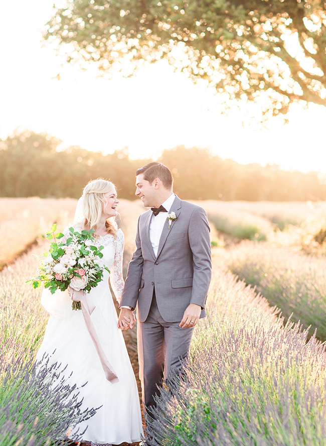
[[[150,161],[129,159],[127,149],[103,155],[80,147],[57,151],[59,144],[53,136],[29,131],[2,141],[1,196],[78,198],[90,179],[101,176],[116,184],[120,198],[132,199],[135,171]],[[184,146],[165,150],[159,161],[172,170],[175,192],[183,199],[326,200],[326,181],[317,172],[242,165],[207,149]]]

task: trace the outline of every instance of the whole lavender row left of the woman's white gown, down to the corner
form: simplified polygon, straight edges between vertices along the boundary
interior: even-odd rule
[[[0,274],[0,446],[64,444],[70,426],[94,412],[81,412],[78,389],[64,382],[63,367],[34,364],[48,317],[40,290],[25,281],[45,250],[34,249]]]

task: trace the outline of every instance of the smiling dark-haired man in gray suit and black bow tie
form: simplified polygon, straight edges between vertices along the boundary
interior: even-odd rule
[[[205,316],[212,272],[206,212],[181,200],[172,186],[164,164],[149,163],[136,172],[135,194],[151,210],[139,216],[120,302],[121,329],[132,328],[137,306],[139,376],[147,411],[155,406],[157,386],[188,356],[194,326]]]

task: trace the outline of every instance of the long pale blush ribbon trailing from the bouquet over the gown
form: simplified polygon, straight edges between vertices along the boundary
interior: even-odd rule
[[[119,379],[116,376],[114,370],[112,369],[110,363],[108,362],[108,360],[105,356],[105,353],[104,353],[102,346],[100,344],[100,341],[98,339],[97,333],[95,331],[92,319],[90,317],[90,315],[92,314],[92,312],[95,309],[95,305],[92,302],[90,302],[89,299],[87,299],[85,292],[83,292],[82,297],[78,296],[78,298],[76,297],[76,299],[74,299],[74,289],[73,288],[70,288],[70,289],[72,290],[71,300],[80,301],[80,303],[81,303],[81,309],[82,309],[83,316],[85,319],[86,327],[87,327],[88,332],[92,338],[93,344],[94,344],[95,349],[98,354],[98,357],[101,361],[102,368],[105,373],[105,378],[108,381],[110,381],[112,384],[117,383],[119,381]]]

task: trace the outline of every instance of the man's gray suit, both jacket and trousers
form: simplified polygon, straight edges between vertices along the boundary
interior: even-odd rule
[[[152,211],[140,215],[136,250],[129,263],[120,306],[137,306],[138,357],[143,402],[154,405],[153,394],[171,370],[188,355],[193,328],[179,323],[190,303],[205,304],[211,280],[211,243],[205,210],[176,196],[165,222],[157,256],[150,239]]]

